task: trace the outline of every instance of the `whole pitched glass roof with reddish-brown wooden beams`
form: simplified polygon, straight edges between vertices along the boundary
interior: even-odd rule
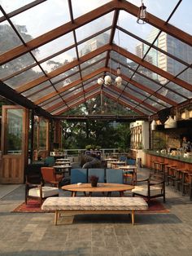
[[[2,90],[11,88],[15,99],[20,94],[26,107],[32,102],[50,117],[101,92],[146,117],[189,102],[192,1],[144,2],[148,20],[141,25],[140,0],[0,0]],[[107,75],[111,86],[99,85]]]

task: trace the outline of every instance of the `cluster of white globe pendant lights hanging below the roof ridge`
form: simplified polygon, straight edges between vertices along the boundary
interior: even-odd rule
[[[119,53],[119,46],[120,46],[120,34],[119,34],[119,29],[117,30],[117,35],[118,35],[118,67],[116,68],[116,80],[115,80],[115,85],[116,86],[121,86],[122,78],[120,77],[120,53]],[[109,73],[111,74],[111,57],[109,55]],[[99,86],[111,86],[112,84],[112,79],[110,75],[107,75],[104,77],[98,78],[98,85]]]

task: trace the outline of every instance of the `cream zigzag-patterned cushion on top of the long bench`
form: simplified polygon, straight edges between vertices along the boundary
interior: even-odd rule
[[[50,197],[42,210],[147,210],[140,197]]]

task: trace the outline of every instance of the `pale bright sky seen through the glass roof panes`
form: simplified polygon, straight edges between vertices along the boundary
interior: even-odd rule
[[[0,0],[0,4],[5,9],[5,11],[10,12],[15,9],[33,2],[32,0]],[[84,15],[86,12],[93,10],[96,7],[102,6],[103,4],[110,2],[109,0],[72,0],[73,15],[74,18]],[[137,7],[141,6],[141,0],[130,0]],[[162,20],[167,20],[168,15],[172,12],[172,9],[176,6],[178,0],[144,0],[143,1],[146,10],[153,15],[157,15]],[[187,33],[192,33],[192,23],[190,22],[190,12],[192,10],[192,0],[183,0],[179,7],[170,20],[171,24],[178,26],[178,28],[184,30]],[[26,25],[28,33],[36,38],[43,33],[55,29],[59,25],[67,23],[70,20],[70,15],[68,11],[68,0],[47,0],[24,11],[20,15],[15,15],[11,18],[14,24]],[[112,22],[112,15],[108,14],[99,20],[94,20],[91,24],[85,25],[80,29],[76,30],[77,40],[81,40],[98,30],[103,29],[110,25]],[[146,40],[149,33],[151,33],[150,24],[137,24],[136,17],[129,15],[126,11],[120,11],[120,16],[118,20],[118,25],[120,27],[127,29],[131,33],[135,33],[137,36],[144,38]],[[115,37],[115,42],[118,42],[117,34]],[[63,38],[57,39],[54,43],[47,44],[39,48],[39,53],[37,59],[41,60],[47,54],[51,52],[59,51],[64,47],[72,44],[72,35],[65,36]],[[126,44],[125,44],[126,43]],[[133,38],[124,38],[124,33],[120,33],[120,46],[127,48],[129,51],[135,51],[135,40]],[[72,52],[71,52],[72,53]],[[61,55],[56,60],[63,60],[63,58],[72,60],[74,56],[70,55],[70,52]]]

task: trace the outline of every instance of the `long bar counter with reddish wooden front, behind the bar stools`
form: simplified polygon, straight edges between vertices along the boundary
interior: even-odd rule
[[[168,163],[168,165],[175,165],[178,168],[192,170],[192,156],[172,156],[167,153],[156,152],[153,150],[144,150],[146,153],[146,167],[151,168],[153,161]]]

